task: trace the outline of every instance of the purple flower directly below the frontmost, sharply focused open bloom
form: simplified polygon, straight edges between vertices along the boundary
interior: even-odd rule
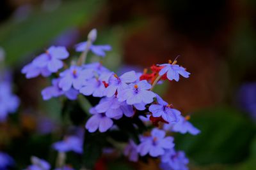
[[[126,117],[134,115],[132,106],[127,105],[125,102],[119,102],[116,96],[102,98],[95,110],[98,113],[106,113],[107,117],[115,119],[122,118],[123,115]]]

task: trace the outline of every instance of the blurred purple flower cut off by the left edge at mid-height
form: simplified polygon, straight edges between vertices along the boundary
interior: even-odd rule
[[[19,98],[12,94],[10,82],[0,82],[0,122],[6,120],[8,113],[19,107]]]

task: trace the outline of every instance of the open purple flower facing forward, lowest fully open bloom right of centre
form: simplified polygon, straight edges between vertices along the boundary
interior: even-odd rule
[[[152,157],[158,157],[164,154],[164,149],[172,149],[174,147],[173,138],[171,136],[165,137],[165,132],[154,128],[151,131],[151,136],[141,137],[141,143],[138,146],[138,152],[141,156],[149,153]]]

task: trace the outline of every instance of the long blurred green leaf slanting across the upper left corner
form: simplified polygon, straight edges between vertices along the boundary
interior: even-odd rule
[[[102,2],[65,1],[54,11],[42,11],[38,6],[27,20],[1,25],[0,46],[6,51],[6,62],[17,64],[29,53],[47,48],[47,43],[67,27],[90,22]]]

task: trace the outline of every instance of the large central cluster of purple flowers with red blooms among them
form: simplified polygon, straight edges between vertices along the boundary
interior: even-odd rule
[[[134,162],[140,157],[150,155],[161,159],[163,169],[187,169],[188,159],[183,152],[175,152],[174,138],[169,132],[189,132],[195,135],[200,131],[188,122],[188,117],[182,117],[179,110],[164,101],[153,89],[163,80],[179,81],[180,76],[188,78],[190,73],[179,66],[177,60],[154,65],[150,67],[151,73],[145,69],[143,73],[128,71],[122,75],[109,71],[101,62],[84,64],[88,52],[92,51],[95,55],[104,57],[106,51],[111,50],[109,45],[93,45],[96,38],[97,31],[93,29],[88,34],[88,41],[75,46],[76,51],[82,53],[79,59],[71,59],[70,66],[63,62],[69,56],[66,48],[51,46],[25,66],[22,73],[27,78],[54,74],[52,85],[42,90],[44,100],[64,96],[76,101],[79,95],[89,101],[92,98],[98,99],[99,103],[90,108],[88,112],[91,116],[85,122],[89,133],[118,131],[122,126],[121,121],[129,123],[136,118],[140,120],[139,117],[147,117],[156,127],[149,126],[148,132],[138,134],[138,141],[129,139],[124,155]],[[132,124],[132,127],[136,129],[136,125]],[[52,147],[61,153],[73,151],[83,154],[86,152],[83,151],[85,141],[76,136],[67,136]],[[40,164],[41,167],[45,166],[44,169],[50,169],[44,160],[34,158],[32,162],[33,166]]]

